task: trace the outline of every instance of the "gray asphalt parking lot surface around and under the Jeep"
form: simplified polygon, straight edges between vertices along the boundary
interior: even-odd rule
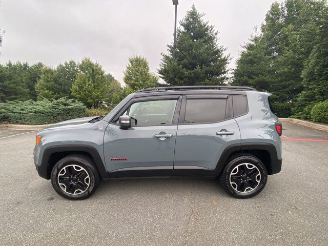
[[[169,178],[102,181],[82,201],[37,175],[35,133],[0,129],[2,245],[328,244],[327,132],[283,122],[282,171],[251,199]]]

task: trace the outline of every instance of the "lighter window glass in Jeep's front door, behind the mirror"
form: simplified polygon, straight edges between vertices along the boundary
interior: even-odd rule
[[[171,125],[177,100],[139,101],[132,104],[124,113],[136,120],[131,126]]]

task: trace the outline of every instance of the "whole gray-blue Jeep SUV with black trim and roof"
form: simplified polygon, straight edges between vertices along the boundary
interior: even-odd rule
[[[281,124],[270,93],[248,87],[159,87],[128,95],[108,115],[36,134],[38,174],[69,199],[103,179],[219,177],[237,198],[257,195],[281,169]]]

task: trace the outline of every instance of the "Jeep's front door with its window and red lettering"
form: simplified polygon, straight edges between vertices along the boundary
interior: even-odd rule
[[[178,98],[132,99],[108,125],[104,153],[110,177],[172,175],[180,108]],[[120,115],[132,117],[131,128],[119,128]]]

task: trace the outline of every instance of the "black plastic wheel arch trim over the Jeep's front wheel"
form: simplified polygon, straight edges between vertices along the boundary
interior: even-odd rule
[[[38,168],[39,175],[43,178],[50,179],[51,170],[57,161],[70,154],[84,154],[91,157],[101,178],[109,178],[108,172],[99,152],[94,147],[86,145],[60,145],[48,147],[44,151],[41,166]]]

